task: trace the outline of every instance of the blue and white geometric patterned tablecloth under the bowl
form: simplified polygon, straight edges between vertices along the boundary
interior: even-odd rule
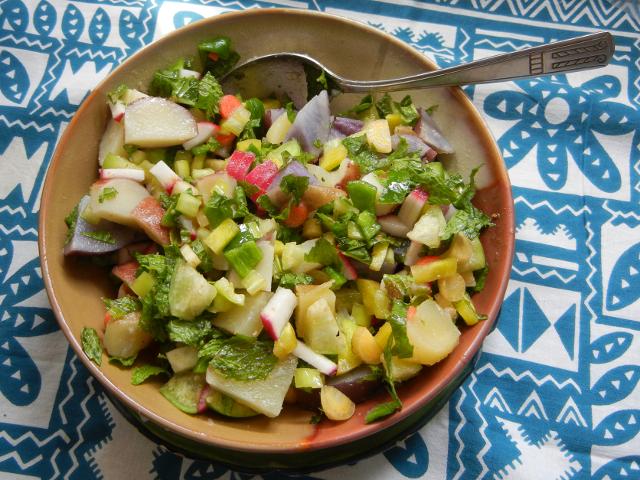
[[[36,222],[55,144],[96,82],[168,31],[269,6],[366,22],[441,66],[597,29],[617,44],[603,70],[466,89],[502,149],[517,213],[497,327],[419,433],[309,478],[640,478],[635,1],[4,0],[0,479],[247,478],[153,444],[109,403],[49,309]]]

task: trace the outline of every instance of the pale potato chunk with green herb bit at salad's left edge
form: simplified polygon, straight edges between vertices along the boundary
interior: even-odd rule
[[[113,178],[95,182],[91,185],[89,195],[89,208],[97,218],[137,228],[132,212],[142,200],[149,197],[149,192],[133,180]]]

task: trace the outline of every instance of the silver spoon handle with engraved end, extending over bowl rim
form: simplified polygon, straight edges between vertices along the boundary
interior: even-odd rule
[[[548,43],[432,72],[389,80],[341,82],[345,93],[410,90],[498,82],[606,66],[615,43],[608,32]]]

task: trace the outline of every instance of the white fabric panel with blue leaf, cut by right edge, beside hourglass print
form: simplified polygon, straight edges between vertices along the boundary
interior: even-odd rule
[[[635,239],[636,242],[630,242]],[[601,229],[602,309],[640,324],[640,225],[609,220]]]

